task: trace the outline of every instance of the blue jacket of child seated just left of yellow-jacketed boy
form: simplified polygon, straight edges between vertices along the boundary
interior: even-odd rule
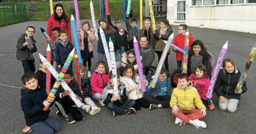
[[[151,83],[152,81],[153,79],[151,79],[148,83]],[[167,81],[167,94],[171,96],[171,79],[167,77],[165,81]],[[147,92],[149,92],[149,95],[153,95],[154,97],[156,97],[161,93],[161,86],[158,79],[155,88],[148,88],[148,86],[146,87],[146,90]]]

